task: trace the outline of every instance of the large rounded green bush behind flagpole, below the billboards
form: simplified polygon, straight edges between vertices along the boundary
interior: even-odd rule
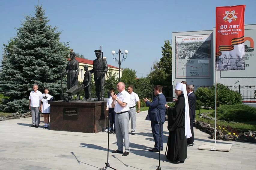
[[[211,88],[200,87],[196,90],[195,95],[197,100],[203,103],[203,106],[215,108],[215,85]],[[217,107],[234,104],[242,104],[242,95],[223,84],[217,83]]]

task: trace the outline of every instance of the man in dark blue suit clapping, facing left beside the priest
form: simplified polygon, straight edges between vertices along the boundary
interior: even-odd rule
[[[154,88],[154,94],[155,98],[152,102],[149,102],[149,100],[146,98],[144,102],[146,102],[146,105],[149,107],[148,115],[146,117],[146,120],[151,121],[151,128],[152,128],[152,134],[155,140],[155,147],[152,149],[149,149],[151,152],[159,152],[159,149],[161,151],[163,150],[163,125],[165,121],[165,104],[166,99],[164,94],[162,93],[162,87],[161,85],[156,85]],[[161,114],[161,120],[160,120],[160,114]],[[161,122],[161,133],[159,135],[159,122]],[[161,136],[161,146],[159,148],[159,137]]]

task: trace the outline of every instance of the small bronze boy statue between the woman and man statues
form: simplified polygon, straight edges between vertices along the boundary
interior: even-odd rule
[[[84,93],[85,98],[84,100],[92,100],[92,93],[91,93],[91,73],[88,70],[89,66],[84,65],[83,69],[85,70],[84,78],[83,78],[83,85],[84,85]]]

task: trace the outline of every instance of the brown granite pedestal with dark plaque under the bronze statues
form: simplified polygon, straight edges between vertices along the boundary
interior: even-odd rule
[[[106,101],[49,102],[50,129],[97,133],[107,127]]]

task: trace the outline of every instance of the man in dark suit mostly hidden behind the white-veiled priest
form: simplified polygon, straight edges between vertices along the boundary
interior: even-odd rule
[[[188,138],[187,146],[194,146],[194,130],[193,121],[196,118],[196,95],[194,94],[194,86],[187,85],[188,93],[188,105],[189,105],[189,120],[190,120],[190,130],[192,137]]]

